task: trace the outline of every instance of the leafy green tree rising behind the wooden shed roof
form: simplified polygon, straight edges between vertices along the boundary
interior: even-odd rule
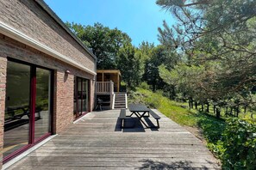
[[[124,44],[131,43],[127,33],[117,28],[104,27],[100,23],[83,26],[67,22],[66,25],[97,56],[97,69],[117,69],[117,53]]]

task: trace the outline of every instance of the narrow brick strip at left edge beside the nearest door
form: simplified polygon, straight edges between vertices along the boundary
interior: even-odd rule
[[[4,107],[5,107],[5,82],[6,82],[6,58],[0,57],[0,150],[3,149],[3,124],[4,124]],[[3,155],[0,155],[0,162]],[[2,165],[0,163],[0,169]]]

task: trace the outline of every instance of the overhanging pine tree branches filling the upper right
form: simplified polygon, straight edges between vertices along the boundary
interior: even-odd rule
[[[253,104],[256,2],[158,0],[157,4],[178,20],[173,27],[164,22],[159,40],[185,56],[187,66],[204,68],[198,82],[208,98],[214,94],[215,99],[226,100],[238,94],[243,102]]]

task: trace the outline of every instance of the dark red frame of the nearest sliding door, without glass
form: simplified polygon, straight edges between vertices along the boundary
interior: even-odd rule
[[[16,151],[14,151],[13,153],[11,153],[10,155],[7,155],[3,158],[3,164],[6,163],[7,161],[10,161],[11,159],[15,158],[17,155],[22,154],[22,152],[30,149],[31,147],[33,147],[35,144],[40,143],[43,139],[49,137],[52,135],[53,132],[53,80],[54,80],[54,76],[53,76],[53,70],[49,70],[47,68],[41,67],[39,65],[35,65],[35,64],[29,64],[27,62],[23,62],[14,58],[7,58],[8,61],[11,62],[16,62],[18,64],[26,64],[30,66],[30,100],[29,100],[29,112],[32,112],[32,114],[30,114],[29,116],[29,132],[28,132],[28,145],[22,147],[21,149],[17,149]],[[50,132],[46,133],[45,135],[43,135],[42,137],[39,137],[38,139],[34,140],[34,115],[35,115],[35,103],[36,103],[36,68],[41,68],[41,69],[45,69],[45,70],[49,70],[51,72],[51,86],[50,86],[50,96],[51,96],[51,100],[50,100],[50,118],[51,118],[51,129]]]

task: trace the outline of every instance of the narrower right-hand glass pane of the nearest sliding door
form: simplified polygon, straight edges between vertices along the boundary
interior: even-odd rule
[[[36,69],[36,98],[34,115],[34,138],[39,138],[50,132],[50,89],[51,71]]]

